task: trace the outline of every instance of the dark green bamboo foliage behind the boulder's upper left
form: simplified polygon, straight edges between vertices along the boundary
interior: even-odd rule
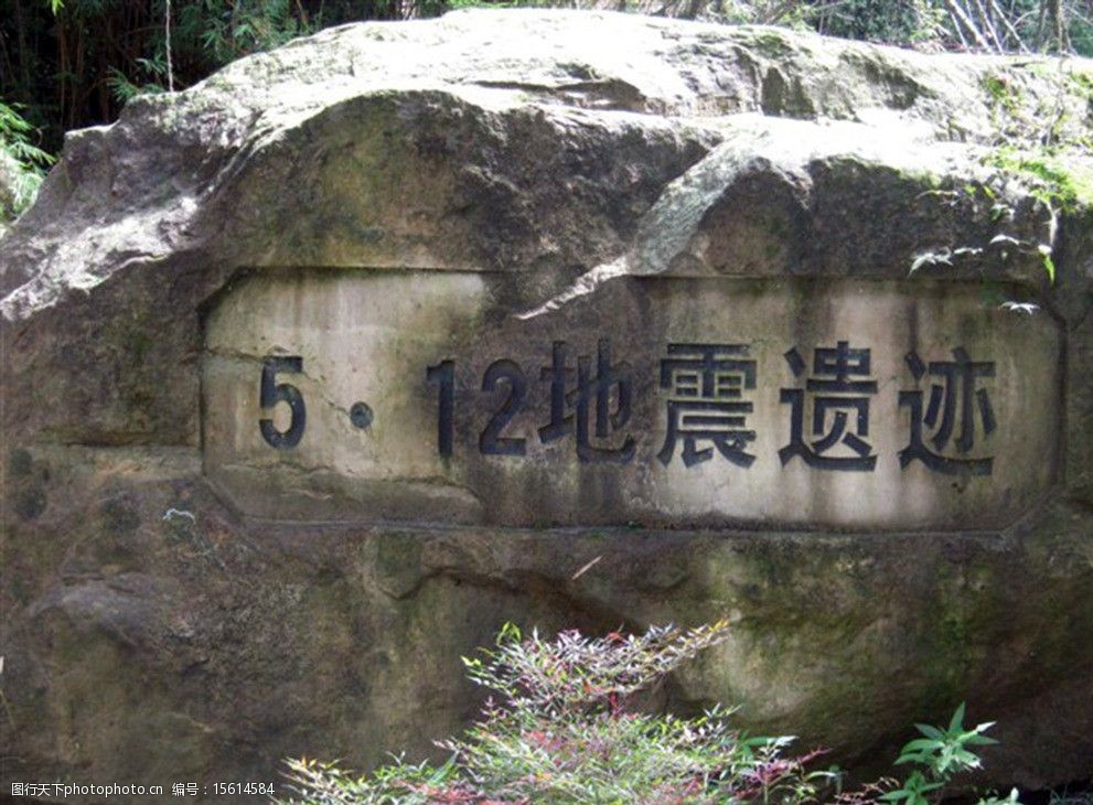
[[[353,20],[406,15],[409,0],[172,0],[173,85],[240,56]],[[437,2],[437,0],[427,0]],[[64,131],[110,122],[136,95],[167,86],[167,0],[7,0],[0,97],[24,105],[49,150]]]

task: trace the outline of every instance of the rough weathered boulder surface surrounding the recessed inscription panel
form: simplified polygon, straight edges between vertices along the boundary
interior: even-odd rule
[[[733,638],[667,704],[739,702],[869,764],[966,699],[999,721],[989,781],[1089,776],[1093,167],[1075,158],[1051,285],[1042,205],[986,159],[1015,104],[1061,99],[1059,133],[1087,135],[1093,66],[1068,69],[1085,82],[774,29],[459,12],[325,31],[69,135],[0,239],[3,785],[368,765],[465,722],[459,656],[505,621],[721,616]],[[992,76],[1018,88],[1005,108]],[[947,262],[909,273],[928,253]],[[1000,289],[1040,305],[1030,344],[1058,340],[1061,383],[1024,415],[1058,441],[1024,457],[1042,484],[993,530],[251,518],[211,481],[206,325],[236,280],[319,269],[459,271],[528,326],[653,277]]]

